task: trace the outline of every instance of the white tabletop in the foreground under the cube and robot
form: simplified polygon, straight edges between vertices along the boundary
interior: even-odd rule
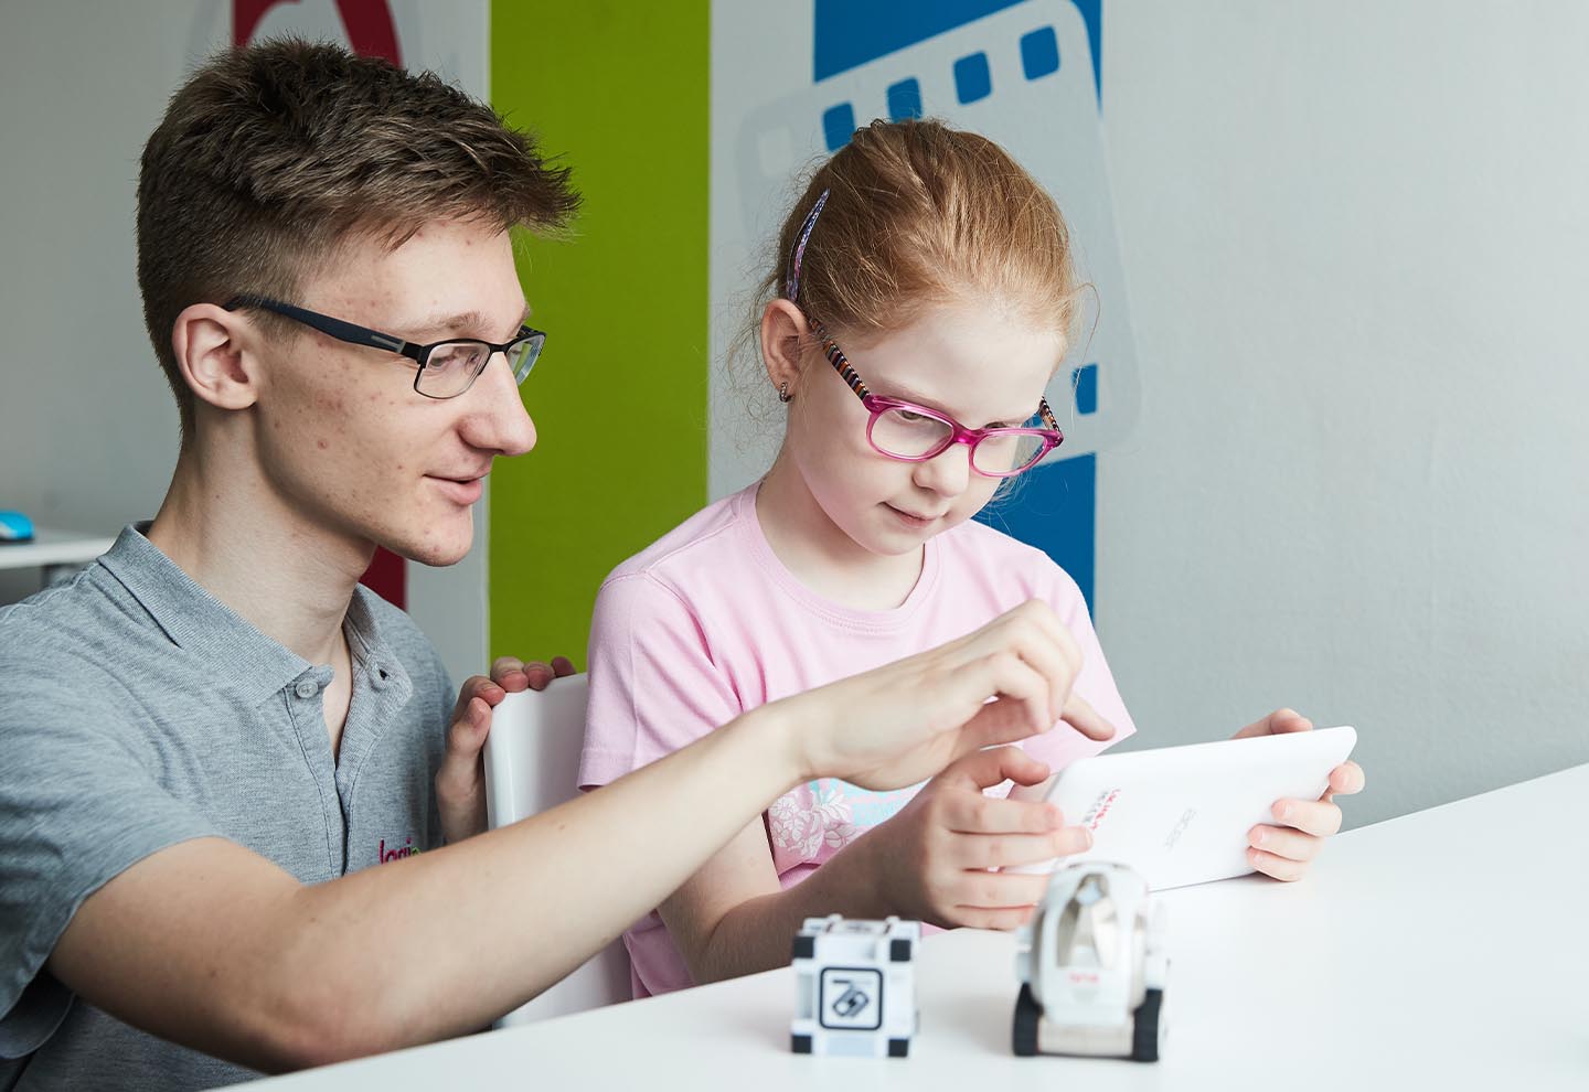
[[[1300,884],[1165,892],[1158,1063],[1017,1059],[1014,936],[958,930],[922,946],[907,1059],[791,1054],[783,968],[262,1084],[1586,1090],[1586,830],[1589,765],[1340,835]]]

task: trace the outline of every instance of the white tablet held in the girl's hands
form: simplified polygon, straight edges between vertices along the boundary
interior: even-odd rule
[[[1047,798],[1093,833],[1077,860],[1119,860],[1154,890],[1252,871],[1247,832],[1274,822],[1276,800],[1317,800],[1357,743],[1351,727],[1101,754],[1060,770]]]

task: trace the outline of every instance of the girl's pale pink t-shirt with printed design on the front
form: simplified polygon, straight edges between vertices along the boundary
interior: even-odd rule
[[[817,595],[783,567],[761,533],[755,497],[752,486],[704,508],[602,584],[582,787],[615,781],[766,702],[965,636],[1028,598],[1047,602],[1076,636],[1085,656],[1076,692],[1114,724],[1115,740],[1135,732],[1081,589],[1042,551],[966,522],[926,543],[904,603],[860,611]],[[1060,724],[1023,746],[1057,770],[1108,744]],[[822,778],[779,797],[764,816],[779,882],[798,884],[918,789],[868,792]],[[694,984],[656,913],[629,929],[624,944],[636,997]]]

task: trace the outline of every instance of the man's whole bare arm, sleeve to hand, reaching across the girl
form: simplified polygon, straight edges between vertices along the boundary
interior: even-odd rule
[[[915,784],[1047,729],[1077,667],[1054,613],[1026,605],[540,816],[332,882],[181,843],[91,895],[48,967],[119,1019],[264,1070],[470,1032],[609,944],[790,786]]]

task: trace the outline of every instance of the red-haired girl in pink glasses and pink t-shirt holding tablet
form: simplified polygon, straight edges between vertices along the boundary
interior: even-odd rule
[[[1046,878],[990,870],[1090,844],[1050,805],[985,790],[1036,786],[1131,719],[1076,583],[971,522],[1061,441],[1042,392],[1079,287],[1052,198],[980,136],[874,122],[815,171],[763,284],[782,451],[602,584],[582,784],[1030,598],[1066,622],[1084,702],[1023,749],[968,756],[923,786],[823,779],[783,795],[624,935],[636,995],[780,967],[810,914],[1012,929]],[[1309,727],[1282,709],[1243,733]],[[1330,784],[1360,781],[1347,763]],[[669,836],[667,816],[639,819],[639,836]],[[1252,863],[1295,878],[1340,811],[1279,802],[1276,819],[1254,829]]]

